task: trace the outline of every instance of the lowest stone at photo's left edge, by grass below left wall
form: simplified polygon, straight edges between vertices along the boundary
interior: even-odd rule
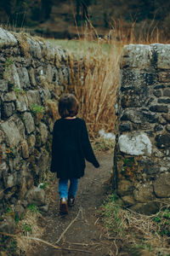
[[[8,234],[14,234],[15,230],[15,221],[9,215],[6,215],[3,219],[3,222],[0,224],[0,231]]]

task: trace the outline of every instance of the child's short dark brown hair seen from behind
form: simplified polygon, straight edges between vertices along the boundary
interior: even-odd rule
[[[59,115],[62,118],[73,117],[78,113],[77,98],[73,94],[65,94],[59,99]]]

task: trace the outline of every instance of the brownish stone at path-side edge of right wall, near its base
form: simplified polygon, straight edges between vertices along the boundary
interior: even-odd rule
[[[117,183],[117,195],[129,195],[133,192],[133,183],[126,179],[119,180]]]

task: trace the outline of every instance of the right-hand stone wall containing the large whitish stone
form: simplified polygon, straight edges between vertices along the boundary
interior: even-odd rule
[[[117,91],[114,186],[127,207],[170,202],[170,44],[126,45]]]

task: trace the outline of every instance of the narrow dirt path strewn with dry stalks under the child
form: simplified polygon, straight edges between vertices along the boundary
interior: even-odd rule
[[[59,216],[59,195],[54,193],[54,202],[51,201],[48,214],[45,217],[45,232],[43,240],[54,244],[59,236],[71,224],[65,235],[56,245],[71,250],[56,250],[45,245],[34,247],[27,256],[57,256],[57,255],[115,255],[114,244],[105,239],[105,231],[99,225],[96,211],[105,200],[106,181],[111,177],[113,154],[98,156],[100,168],[87,163],[86,175],[79,183],[75,207],[70,208],[67,216]],[[72,250],[74,249],[74,250]]]

